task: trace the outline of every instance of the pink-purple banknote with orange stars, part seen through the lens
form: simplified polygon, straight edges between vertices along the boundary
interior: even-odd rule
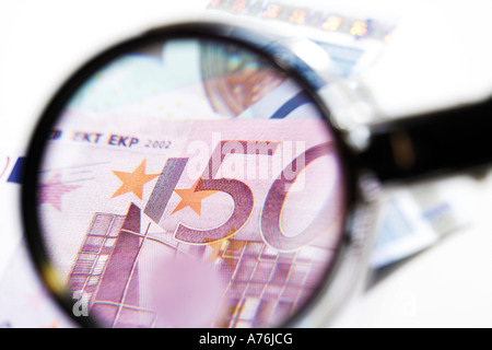
[[[316,108],[279,120],[106,115],[110,129],[67,113],[39,178],[43,235],[105,325],[276,326],[324,283],[347,194]]]

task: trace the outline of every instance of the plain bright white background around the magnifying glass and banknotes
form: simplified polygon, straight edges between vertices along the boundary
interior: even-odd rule
[[[152,26],[206,16],[207,2],[1,1],[0,150],[25,147],[49,97],[94,54]],[[492,93],[490,1],[311,2],[405,19],[366,74],[388,113]],[[492,179],[477,184],[464,200],[473,213],[467,230],[405,265],[348,307],[336,325],[492,326]]]

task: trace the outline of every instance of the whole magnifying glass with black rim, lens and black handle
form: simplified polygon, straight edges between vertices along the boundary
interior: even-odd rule
[[[22,199],[36,267],[77,323],[317,325],[361,271],[373,179],[491,160],[475,124],[490,102],[364,126],[356,89],[325,86],[295,54],[255,32],[175,25],[60,89]]]

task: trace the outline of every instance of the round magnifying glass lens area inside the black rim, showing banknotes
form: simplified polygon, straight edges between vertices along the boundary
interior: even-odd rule
[[[133,43],[99,62],[45,115],[33,177],[30,234],[72,316],[288,324],[333,271],[345,215],[335,137],[306,86],[225,38]]]

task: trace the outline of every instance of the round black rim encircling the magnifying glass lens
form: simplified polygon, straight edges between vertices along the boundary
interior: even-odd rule
[[[303,77],[298,69],[292,65],[292,60],[286,60],[283,57],[274,56],[271,54],[271,38],[251,32],[250,30],[239,28],[236,26],[230,26],[221,23],[208,23],[208,22],[191,22],[177,25],[169,25],[152,30],[141,36],[130,38],[122,42],[109,49],[103,51],[82,68],[80,68],[71,78],[69,78],[65,84],[51,98],[48,106],[42,114],[39,121],[35,128],[35,131],[31,138],[31,142],[27,150],[27,158],[23,170],[23,186],[21,189],[21,210],[23,217],[24,232],[28,250],[33,258],[35,268],[37,269],[43,282],[48,288],[48,291],[52,298],[58,302],[65,313],[75,322],[75,324],[82,327],[101,327],[95,319],[91,317],[77,317],[73,315],[74,300],[65,293],[63,290],[57,288],[54,283],[52,273],[55,268],[50,262],[43,241],[40,220],[37,214],[37,179],[38,170],[42,164],[43,154],[47,144],[46,136],[51,130],[55,122],[58,120],[63,107],[70,101],[70,98],[77,93],[77,91],[101,68],[107,66],[114,59],[120,57],[124,54],[130,52],[136,48],[156,43],[165,42],[177,38],[213,38],[219,40],[229,42],[232,44],[247,47],[251,51],[267,58],[274,66],[282,71],[285,71],[289,77],[294,79],[301,86],[303,86],[306,93],[317,103],[318,108],[323,115],[327,118],[327,122],[330,122],[330,113],[323,100],[316,92],[316,88],[305,77]],[[344,194],[345,194],[345,207],[347,212],[344,217],[343,235],[341,242],[339,242],[339,252],[333,258],[333,264],[325,272],[325,282],[314,293],[308,302],[305,303],[284,325],[280,327],[291,327],[296,322],[308,314],[309,311],[319,301],[320,295],[325,294],[331,284],[331,281],[337,275],[345,250],[351,241],[349,218],[353,212],[356,203],[356,190],[355,188],[355,174],[352,171],[352,156],[349,148],[343,142],[341,135],[336,128],[331,127],[336,147],[340,153],[341,171],[344,177]]]

